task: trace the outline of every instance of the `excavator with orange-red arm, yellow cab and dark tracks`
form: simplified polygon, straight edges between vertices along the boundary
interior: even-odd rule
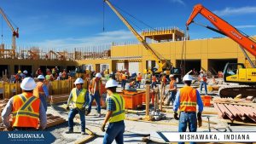
[[[235,97],[236,95],[252,95],[256,96],[256,68],[253,61],[247,55],[245,49],[252,55],[256,56],[256,42],[253,38],[248,37],[246,34],[239,32],[234,26],[231,26],[225,20],[219,18],[216,14],[213,14],[210,10],[203,7],[201,4],[195,5],[192,13],[189,16],[189,20],[186,23],[188,26],[194,22],[194,18],[197,14],[201,14],[207,20],[209,20],[215,29],[211,26],[205,26],[208,29],[223,34],[226,37],[230,37],[236,43],[239,44],[241,51],[249,61],[251,67],[246,67],[242,63],[227,63],[224,66],[224,82],[236,83],[239,85],[224,86],[219,89],[219,95],[221,97]]]

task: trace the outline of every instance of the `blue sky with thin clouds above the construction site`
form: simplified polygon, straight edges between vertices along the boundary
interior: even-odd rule
[[[256,2],[253,0],[110,0],[111,3],[142,20],[151,27],[177,26],[185,23],[197,3],[218,14],[247,35],[256,33]],[[20,28],[16,40],[20,46],[44,48],[74,48],[107,43],[136,41],[127,27],[105,4],[105,32],[102,0],[1,0],[0,7]],[[128,17],[141,29],[149,28]],[[208,20],[198,15],[195,20],[206,25]],[[3,24],[2,24],[3,23]],[[1,43],[11,43],[11,32],[0,17]],[[2,28],[3,27],[3,28]],[[137,32],[141,32],[137,28]],[[216,32],[191,24],[192,39],[222,37]]]

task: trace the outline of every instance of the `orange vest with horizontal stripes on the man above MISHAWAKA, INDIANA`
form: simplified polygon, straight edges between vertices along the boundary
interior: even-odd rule
[[[196,90],[185,86],[180,89],[180,106],[182,112],[196,112]]]

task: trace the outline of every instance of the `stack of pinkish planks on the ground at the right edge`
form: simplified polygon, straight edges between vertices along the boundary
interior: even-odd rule
[[[251,106],[214,102],[215,109],[218,112],[218,117],[230,120],[236,124],[256,124],[256,109]]]

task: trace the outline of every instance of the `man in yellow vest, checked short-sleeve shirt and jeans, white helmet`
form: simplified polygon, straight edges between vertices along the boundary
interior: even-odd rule
[[[123,96],[116,92],[118,84],[115,80],[110,79],[106,83],[107,89],[107,114],[102,124],[101,130],[105,131],[105,125],[108,124],[108,129],[104,135],[103,144],[112,143],[113,140],[116,143],[124,143],[125,132],[125,100]]]

